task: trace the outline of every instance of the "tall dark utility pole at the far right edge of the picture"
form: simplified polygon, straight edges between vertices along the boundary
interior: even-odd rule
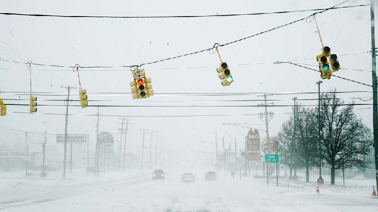
[[[378,170],[378,95],[376,83],[376,61],[375,61],[375,27],[374,27],[374,0],[370,0],[370,30],[371,30],[371,79],[373,88],[373,139],[374,139],[374,162],[375,171]],[[378,174],[375,174],[375,183],[378,186]]]

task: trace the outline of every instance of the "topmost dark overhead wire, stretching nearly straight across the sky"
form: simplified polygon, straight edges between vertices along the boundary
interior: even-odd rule
[[[331,9],[328,9],[328,10],[336,10],[336,9],[343,9],[343,8],[356,8],[356,7],[364,7],[364,6],[370,6],[370,5],[346,6],[346,7],[331,8]],[[204,16],[67,16],[67,15],[21,14],[21,13],[0,13],[0,14],[1,15],[10,15],[10,16],[35,16],[35,17],[58,17],[58,18],[156,19],[156,18],[202,18],[202,17],[256,16],[256,15],[269,15],[269,14],[286,14],[286,13],[322,11],[322,10],[327,10],[327,9],[281,11],[281,12],[270,12],[270,13],[204,15]]]

